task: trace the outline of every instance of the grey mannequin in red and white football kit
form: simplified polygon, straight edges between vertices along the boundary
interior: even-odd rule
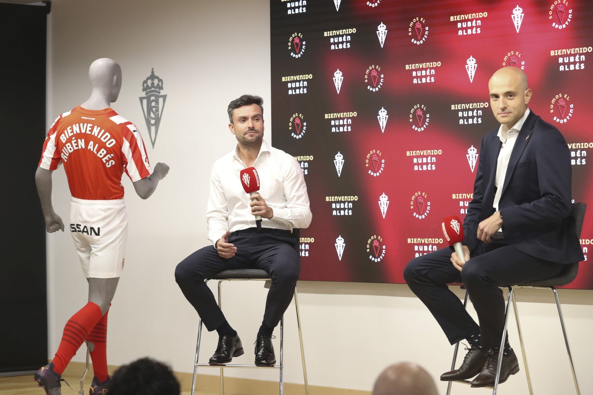
[[[47,232],[63,232],[64,223],[53,210],[52,173],[60,164],[65,168],[72,194],[70,228],[88,281],[87,305],[66,323],[55,358],[35,375],[39,386],[52,395],[60,393],[63,369],[83,341],[88,343],[95,370],[90,394],[109,389],[107,313],[123,271],[127,239],[118,179],[125,171],[136,194],[146,199],[169,171],[165,163],[151,169],[136,126],[110,108],[122,87],[120,66],[113,59],[97,59],[89,78],[91,96],[56,119],[35,174]]]

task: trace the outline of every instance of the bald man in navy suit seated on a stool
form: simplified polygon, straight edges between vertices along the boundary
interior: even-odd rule
[[[527,108],[527,76],[514,67],[499,69],[488,84],[490,107],[500,122],[482,139],[480,162],[464,220],[461,262],[451,249],[409,262],[404,278],[428,307],[451,344],[470,345],[460,368],[442,381],[467,380],[492,386],[505,322],[499,286],[545,280],[565,264],[584,259],[571,210],[571,168],[562,134]],[[471,259],[470,259],[471,257]],[[480,325],[446,284],[463,282]],[[505,342],[500,383],[519,371]]]

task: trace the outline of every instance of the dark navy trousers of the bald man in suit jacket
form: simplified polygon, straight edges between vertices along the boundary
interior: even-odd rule
[[[483,244],[458,271],[450,248],[412,259],[404,269],[410,289],[428,307],[451,344],[480,332],[487,350],[500,346],[505,325],[505,300],[500,285],[544,280],[559,274],[563,264],[544,261],[518,251],[503,240]],[[463,282],[480,325],[446,284]]]

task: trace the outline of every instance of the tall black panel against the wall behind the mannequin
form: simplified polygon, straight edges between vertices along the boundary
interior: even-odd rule
[[[46,7],[0,4],[0,372],[47,364],[46,243],[34,175],[46,133]]]

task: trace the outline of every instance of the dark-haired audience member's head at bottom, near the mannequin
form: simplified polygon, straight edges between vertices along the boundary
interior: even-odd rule
[[[179,395],[171,368],[151,358],[120,367],[111,377],[109,395]]]

